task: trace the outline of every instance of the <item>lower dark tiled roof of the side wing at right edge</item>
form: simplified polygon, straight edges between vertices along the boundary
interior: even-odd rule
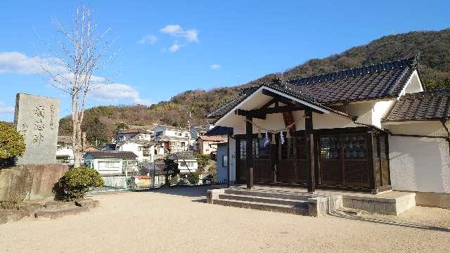
[[[401,96],[385,122],[450,118],[450,89],[423,91]]]

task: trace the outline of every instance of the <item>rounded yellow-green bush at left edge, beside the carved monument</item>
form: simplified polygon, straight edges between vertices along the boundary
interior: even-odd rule
[[[25,153],[23,136],[13,126],[0,122],[0,167],[10,167]]]

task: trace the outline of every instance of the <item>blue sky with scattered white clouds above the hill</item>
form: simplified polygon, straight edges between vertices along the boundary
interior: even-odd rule
[[[234,86],[323,58],[373,39],[450,27],[448,1],[1,1],[0,120],[13,120],[15,93],[61,100],[36,59],[38,35],[55,41],[52,18],[69,22],[75,6],[91,7],[100,27],[113,28],[115,49],[96,75],[115,86],[88,106],[158,103],[188,89]]]

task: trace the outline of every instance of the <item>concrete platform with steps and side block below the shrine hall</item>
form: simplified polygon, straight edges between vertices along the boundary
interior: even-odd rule
[[[409,192],[391,190],[371,194],[317,190],[314,194],[311,194],[307,193],[304,188],[274,186],[255,186],[252,189],[245,188],[245,186],[236,186],[210,190],[207,193],[207,199],[212,204],[271,211],[276,211],[276,208],[271,209],[268,205],[283,205],[285,208],[302,206],[302,209],[308,210],[307,213],[303,214],[311,216],[329,214],[341,207],[360,209],[375,214],[399,215],[416,205],[416,194]],[[306,205],[308,208],[306,208]]]

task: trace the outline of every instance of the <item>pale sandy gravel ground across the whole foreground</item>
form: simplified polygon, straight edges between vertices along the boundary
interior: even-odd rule
[[[205,204],[205,188],[94,195],[101,206],[0,225],[0,252],[448,252],[450,210],[323,218]]]

